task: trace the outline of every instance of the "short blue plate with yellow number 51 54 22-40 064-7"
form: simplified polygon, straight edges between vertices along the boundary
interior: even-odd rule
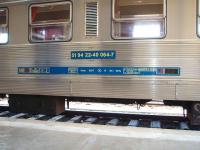
[[[71,59],[116,59],[116,52],[113,50],[72,51]]]

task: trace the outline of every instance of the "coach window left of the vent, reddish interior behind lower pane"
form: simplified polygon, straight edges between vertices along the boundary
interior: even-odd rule
[[[72,4],[57,2],[31,5],[30,41],[69,41],[72,37]]]

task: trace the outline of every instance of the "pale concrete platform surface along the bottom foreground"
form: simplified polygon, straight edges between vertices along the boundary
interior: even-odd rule
[[[0,118],[0,150],[199,150],[200,132]]]

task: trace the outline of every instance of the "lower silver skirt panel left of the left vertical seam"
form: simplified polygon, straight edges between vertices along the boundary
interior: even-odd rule
[[[0,79],[1,93],[70,96],[70,82],[55,79]]]

